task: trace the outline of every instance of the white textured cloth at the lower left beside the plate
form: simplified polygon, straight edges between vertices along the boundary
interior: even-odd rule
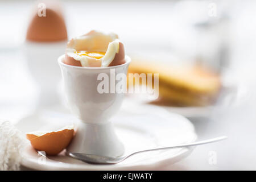
[[[19,170],[26,140],[9,121],[0,120],[0,171]]]

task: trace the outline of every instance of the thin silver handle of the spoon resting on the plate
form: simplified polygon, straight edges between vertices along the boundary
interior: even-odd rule
[[[149,150],[142,150],[142,151],[134,152],[133,154],[130,154],[126,158],[130,157],[131,155],[138,154],[138,153],[141,153],[141,152],[149,152],[149,151],[158,151],[158,150],[168,150],[168,149],[174,149],[174,148],[199,146],[200,144],[207,144],[207,143],[218,142],[218,141],[221,141],[221,140],[225,140],[227,138],[228,137],[226,137],[226,136],[222,136],[222,137],[216,137],[216,138],[212,138],[212,139],[208,139],[208,140],[201,140],[199,142],[180,144],[180,145],[177,145],[177,146],[162,147],[162,148],[152,148],[152,149],[149,149]]]

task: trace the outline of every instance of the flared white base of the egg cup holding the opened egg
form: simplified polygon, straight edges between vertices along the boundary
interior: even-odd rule
[[[79,122],[76,135],[67,148],[71,152],[117,157],[125,148],[115,134],[112,122],[90,124]]]

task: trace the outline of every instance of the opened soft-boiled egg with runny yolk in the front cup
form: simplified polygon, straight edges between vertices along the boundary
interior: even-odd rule
[[[68,42],[64,63],[77,67],[120,65],[125,63],[125,48],[116,34],[93,30]]]

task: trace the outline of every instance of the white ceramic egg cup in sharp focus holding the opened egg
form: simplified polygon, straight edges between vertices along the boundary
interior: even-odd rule
[[[121,156],[125,151],[109,121],[121,106],[123,93],[99,93],[97,90],[101,82],[97,79],[100,73],[108,75],[109,81],[110,69],[114,69],[115,75],[127,74],[130,57],[126,56],[125,59],[126,63],[122,65],[94,68],[67,65],[63,63],[64,55],[59,57],[67,104],[72,113],[80,118],[67,155],[79,152],[114,157]]]

